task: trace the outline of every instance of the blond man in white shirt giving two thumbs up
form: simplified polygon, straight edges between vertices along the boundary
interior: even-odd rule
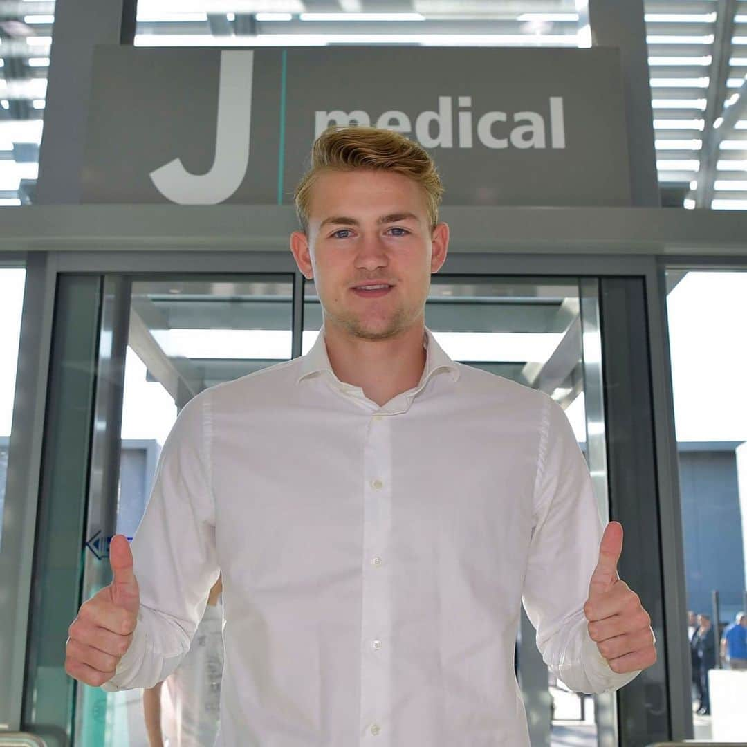
[[[320,334],[185,406],[132,547],[114,537],[114,580],[70,627],[66,672],[108,691],[165,678],[219,567],[221,746],[529,747],[522,601],[572,689],[654,663],[616,572],[622,526],[602,536],[560,406],[453,362],[424,325],[442,190],[401,134],[314,142],[291,251]]]

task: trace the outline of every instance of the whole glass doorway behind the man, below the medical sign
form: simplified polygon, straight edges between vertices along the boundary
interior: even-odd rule
[[[616,385],[605,371],[608,361],[616,371],[624,366],[609,352],[616,345],[607,350],[603,344],[602,311],[617,320],[624,357],[634,343],[622,335],[620,321],[630,282],[438,273],[426,306],[427,326],[454,360],[545,391],[562,406],[589,465],[603,520],[619,518],[624,524],[625,512],[615,509],[615,499],[624,502],[627,496],[608,465],[613,434],[607,408],[614,404],[610,389]],[[60,277],[57,314],[43,528],[51,534],[55,515],[65,510],[63,489],[70,517],[63,536],[69,544],[77,526],[81,549],[56,589],[48,582],[54,571],[49,552],[37,552],[43,581],[32,615],[25,721],[41,725],[46,714],[46,722],[52,719],[67,731],[75,746],[143,745],[148,741],[142,689],[105,692],[73,684],[64,673],[60,678],[46,671],[39,651],[46,640],[58,645],[61,621],[66,628],[81,601],[110,583],[108,543],[115,533],[134,535],[158,453],[179,409],[209,386],[288,360],[294,350],[306,353],[321,326],[320,300],[314,283],[293,273],[81,274]],[[72,470],[66,454],[77,460]],[[661,639],[661,610],[636,582],[634,560],[630,569],[621,576],[641,593]],[[56,616],[46,616],[55,595],[63,595],[65,604]],[[531,743],[643,746],[666,736],[666,726],[657,722],[666,720],[662,667],[657,663],[646,678],[614,695],[572,692],[548,672],[522,613],[515,672]],[[42,692],[63,697],[53,706],[40,700]],[[635,729],[624,718],[628,701]],[[624,731],[651,739],[626,740]],[[65,744],[55,742],[52,730],[48,737],[51,744]]]

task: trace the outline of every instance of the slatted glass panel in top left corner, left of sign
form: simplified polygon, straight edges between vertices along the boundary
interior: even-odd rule
[[[34,202],[54,0],[0,10],[0,205]]]

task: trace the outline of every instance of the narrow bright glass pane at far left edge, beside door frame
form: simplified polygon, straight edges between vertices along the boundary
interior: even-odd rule
[[[0,269],[0,548],[25,276],[23,269]]]

